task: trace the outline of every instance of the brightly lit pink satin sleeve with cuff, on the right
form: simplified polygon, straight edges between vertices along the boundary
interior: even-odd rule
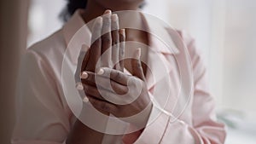
[[[153,124],[143,130],[137,144],[224,144],[224,124],[217,122],[214,101],[207,88],[206,67],[201,55],[195,49],[195,41],[183,32],[179,32],[189,49],[194,71],[194,98],[192,101],[193,124],[186,124],[177,119],[170,122],[170,117],[162,112]],[[153,109],[158,111],[157,108]]]

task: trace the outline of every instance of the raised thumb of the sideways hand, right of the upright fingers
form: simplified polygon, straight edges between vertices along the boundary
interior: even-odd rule
[[[145,76],[144,76],[144,73],[143,73],[143,66],[142,66],[142,63],[141,63],[141,60],[140,60],[140,57],[141,57],[141,49],[140,48],[135,50],[134,56],[135,56],[135,59],[131,60],[133,75],[144,81]]]

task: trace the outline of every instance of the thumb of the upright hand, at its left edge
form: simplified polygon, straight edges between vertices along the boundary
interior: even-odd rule
[[[86,46],[85,44],[82,45],[82,49],[80,50],[79,53],[79,59],[78,59],[78,65],[77,65],[77,69],[75,72],[75,81],[79,82],[80,81],[80,72],[84,71],[84,68],[88,62],[89,59],[89,47]]]

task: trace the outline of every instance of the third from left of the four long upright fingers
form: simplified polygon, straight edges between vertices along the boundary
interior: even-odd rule
[[[112,25],[112,38],[113,38],[113,47],[112,47],[112,60],[114,68],[120,70],[119,66],[119,18],[117,14],[112,14],[111,16]]]

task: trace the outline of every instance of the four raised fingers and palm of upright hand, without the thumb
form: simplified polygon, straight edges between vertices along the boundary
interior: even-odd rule
[[[88,61],[83,61],[84,67],[81,72],[96,72],[101,66],[114,67],[123,71],[122,63],[113,66],[113,62],[118,61],[119,56],[124,56],[125,48],[122,47],[123,45],[119,47],[119,43],[125,40],[124,34],[123,31],[119,31],[117,14],[106,10],[102,16],[97,17],[92,29],[90,55]],[[98,60],[101,61],[99,65],[96,65]]]

